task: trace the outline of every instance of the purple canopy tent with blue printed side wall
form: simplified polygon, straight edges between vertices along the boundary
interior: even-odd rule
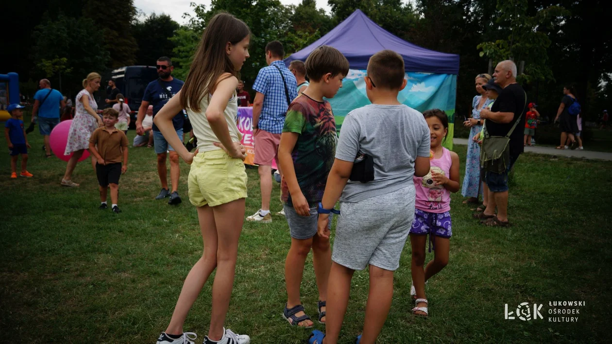
[[[349,74],[342,88],[329,100],[338,127],[349,112],[370,104],[364,82],[368,60],[378,51],[390,49],[403,57],[405,78],[408,81],[406,88],[399,93],[398,100],[421,112],[433,108],[445,111],[449,116],[449,132],[444,147],[452,148],[458,55],[439,53],[408,43],[378,26],[361,10],[356,10],[315,43],[287,57],[285,64],[289,65],[293,60],[305,61],[321,45],[340,50],[349,62]]]

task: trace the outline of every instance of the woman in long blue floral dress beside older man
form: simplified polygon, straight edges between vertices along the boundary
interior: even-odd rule
[[[487,84],[491,79],[488,74],[479,74],[476,76],[476,92],[479,93],[472,100],[472,117],[463,122],[463,125],[471,128],[468,138],[468,156],[465,162],[465,176],[463,177],[463,188],[461,195],[469,197],[463,203],[478,203],[478,196],[482,194],[480,187],[480,145],[474,142],[471,138],[482,130],[482,122],[480,120],[480,109],[485,108],[491,100],[487,98],[482,86]]]

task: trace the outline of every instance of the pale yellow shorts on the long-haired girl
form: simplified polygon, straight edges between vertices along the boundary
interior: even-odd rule
[[[196,207],[216,207],[247,198],[247,172],[241,159],[223,150],[199,153],[188,178],[189,202]]]

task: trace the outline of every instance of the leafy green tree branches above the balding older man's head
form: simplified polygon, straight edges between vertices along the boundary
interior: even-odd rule
[[[524,74],[518,80],[531,83],[535,80],[554,79],[548,63],[548,47],[551,40],[542,29],[551,27],[556,21],[562,21],[569,12],[560,6],[549,6],[529,16],[527,0],[499,0],[497,5],[498,23],[509,30],[507,39],[494,42],[483,42],[477,46],[481,49],[480,57],[487,56],[495,63],[512,59],[518,64],[525,62]]]

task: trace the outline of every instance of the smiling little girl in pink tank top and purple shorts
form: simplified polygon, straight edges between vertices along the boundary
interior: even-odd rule
[[[410,229],[412,246],[412,286],[410,295],[415,300],[412,314],[427,317],[425,282],[439,273],[449,262],[450,192],[459,191],[459,156],[442,147],[449,128],[447,115],[439,109],[423,112],[431,135],[430,172],[425,177],[413,177],[416,189],[414,222]],[[429,252],[434,258],[425,265],[425,245],[429,235]]]

